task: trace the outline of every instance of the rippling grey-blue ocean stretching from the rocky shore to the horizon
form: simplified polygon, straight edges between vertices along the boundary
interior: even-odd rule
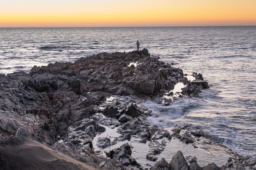
[[[212,141],[256,158],[256,26],[0,28],[0,73],[74,62],[80,57],[148,49],[184,73],[201,73],[210,86],[199,98],[152,109],[159,128],[188,125]]]

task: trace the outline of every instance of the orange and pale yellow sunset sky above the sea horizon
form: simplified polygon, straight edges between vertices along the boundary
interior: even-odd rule
[[[256,0],[0,0],[0,27],[256,25]]]

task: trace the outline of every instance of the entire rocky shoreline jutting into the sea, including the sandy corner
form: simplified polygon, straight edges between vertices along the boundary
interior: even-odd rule
[[[0,167],[256,169],[256,160],[210,141],[201,130],[193,131],[185,125],[167,131],[147,122],[151,110],[143,102],[168,106],[177,97],[198,97],[201,90],[209,88],[202,74],[194,73],[193,77],[190,81],[173,64],[150,57],[147,49],[34,66],[29,74],[0,74]],[[171,90],[178,82],[186,87],[174,94]],[[113,129],[116,136],[100,136],[108,129]],[[184,158],[178,151],[170,162],[159,160],[166,143],[174,139],[195,149],[198,141],[221,147],[230,158],[222,166],[214,162],[199,166],[193,153]],[[148,148],[143,157],[151,164],[140,164],[133,157],[130,141]]]

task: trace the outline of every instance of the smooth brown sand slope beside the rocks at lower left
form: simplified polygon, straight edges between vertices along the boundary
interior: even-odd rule
[[[31,139],[22,145],[0,146],[0,169],[15,170],[99,170],[100,167],[83,163]],[[3,166],[2,162],[7,166]]]

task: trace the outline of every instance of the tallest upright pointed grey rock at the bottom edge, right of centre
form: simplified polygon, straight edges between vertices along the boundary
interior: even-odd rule
[[[178,152],[174,154],[174,156],[172,156],[172,160],[170,162],[170,169],[188,170],[188,163],[180,150],[178,150]]]

